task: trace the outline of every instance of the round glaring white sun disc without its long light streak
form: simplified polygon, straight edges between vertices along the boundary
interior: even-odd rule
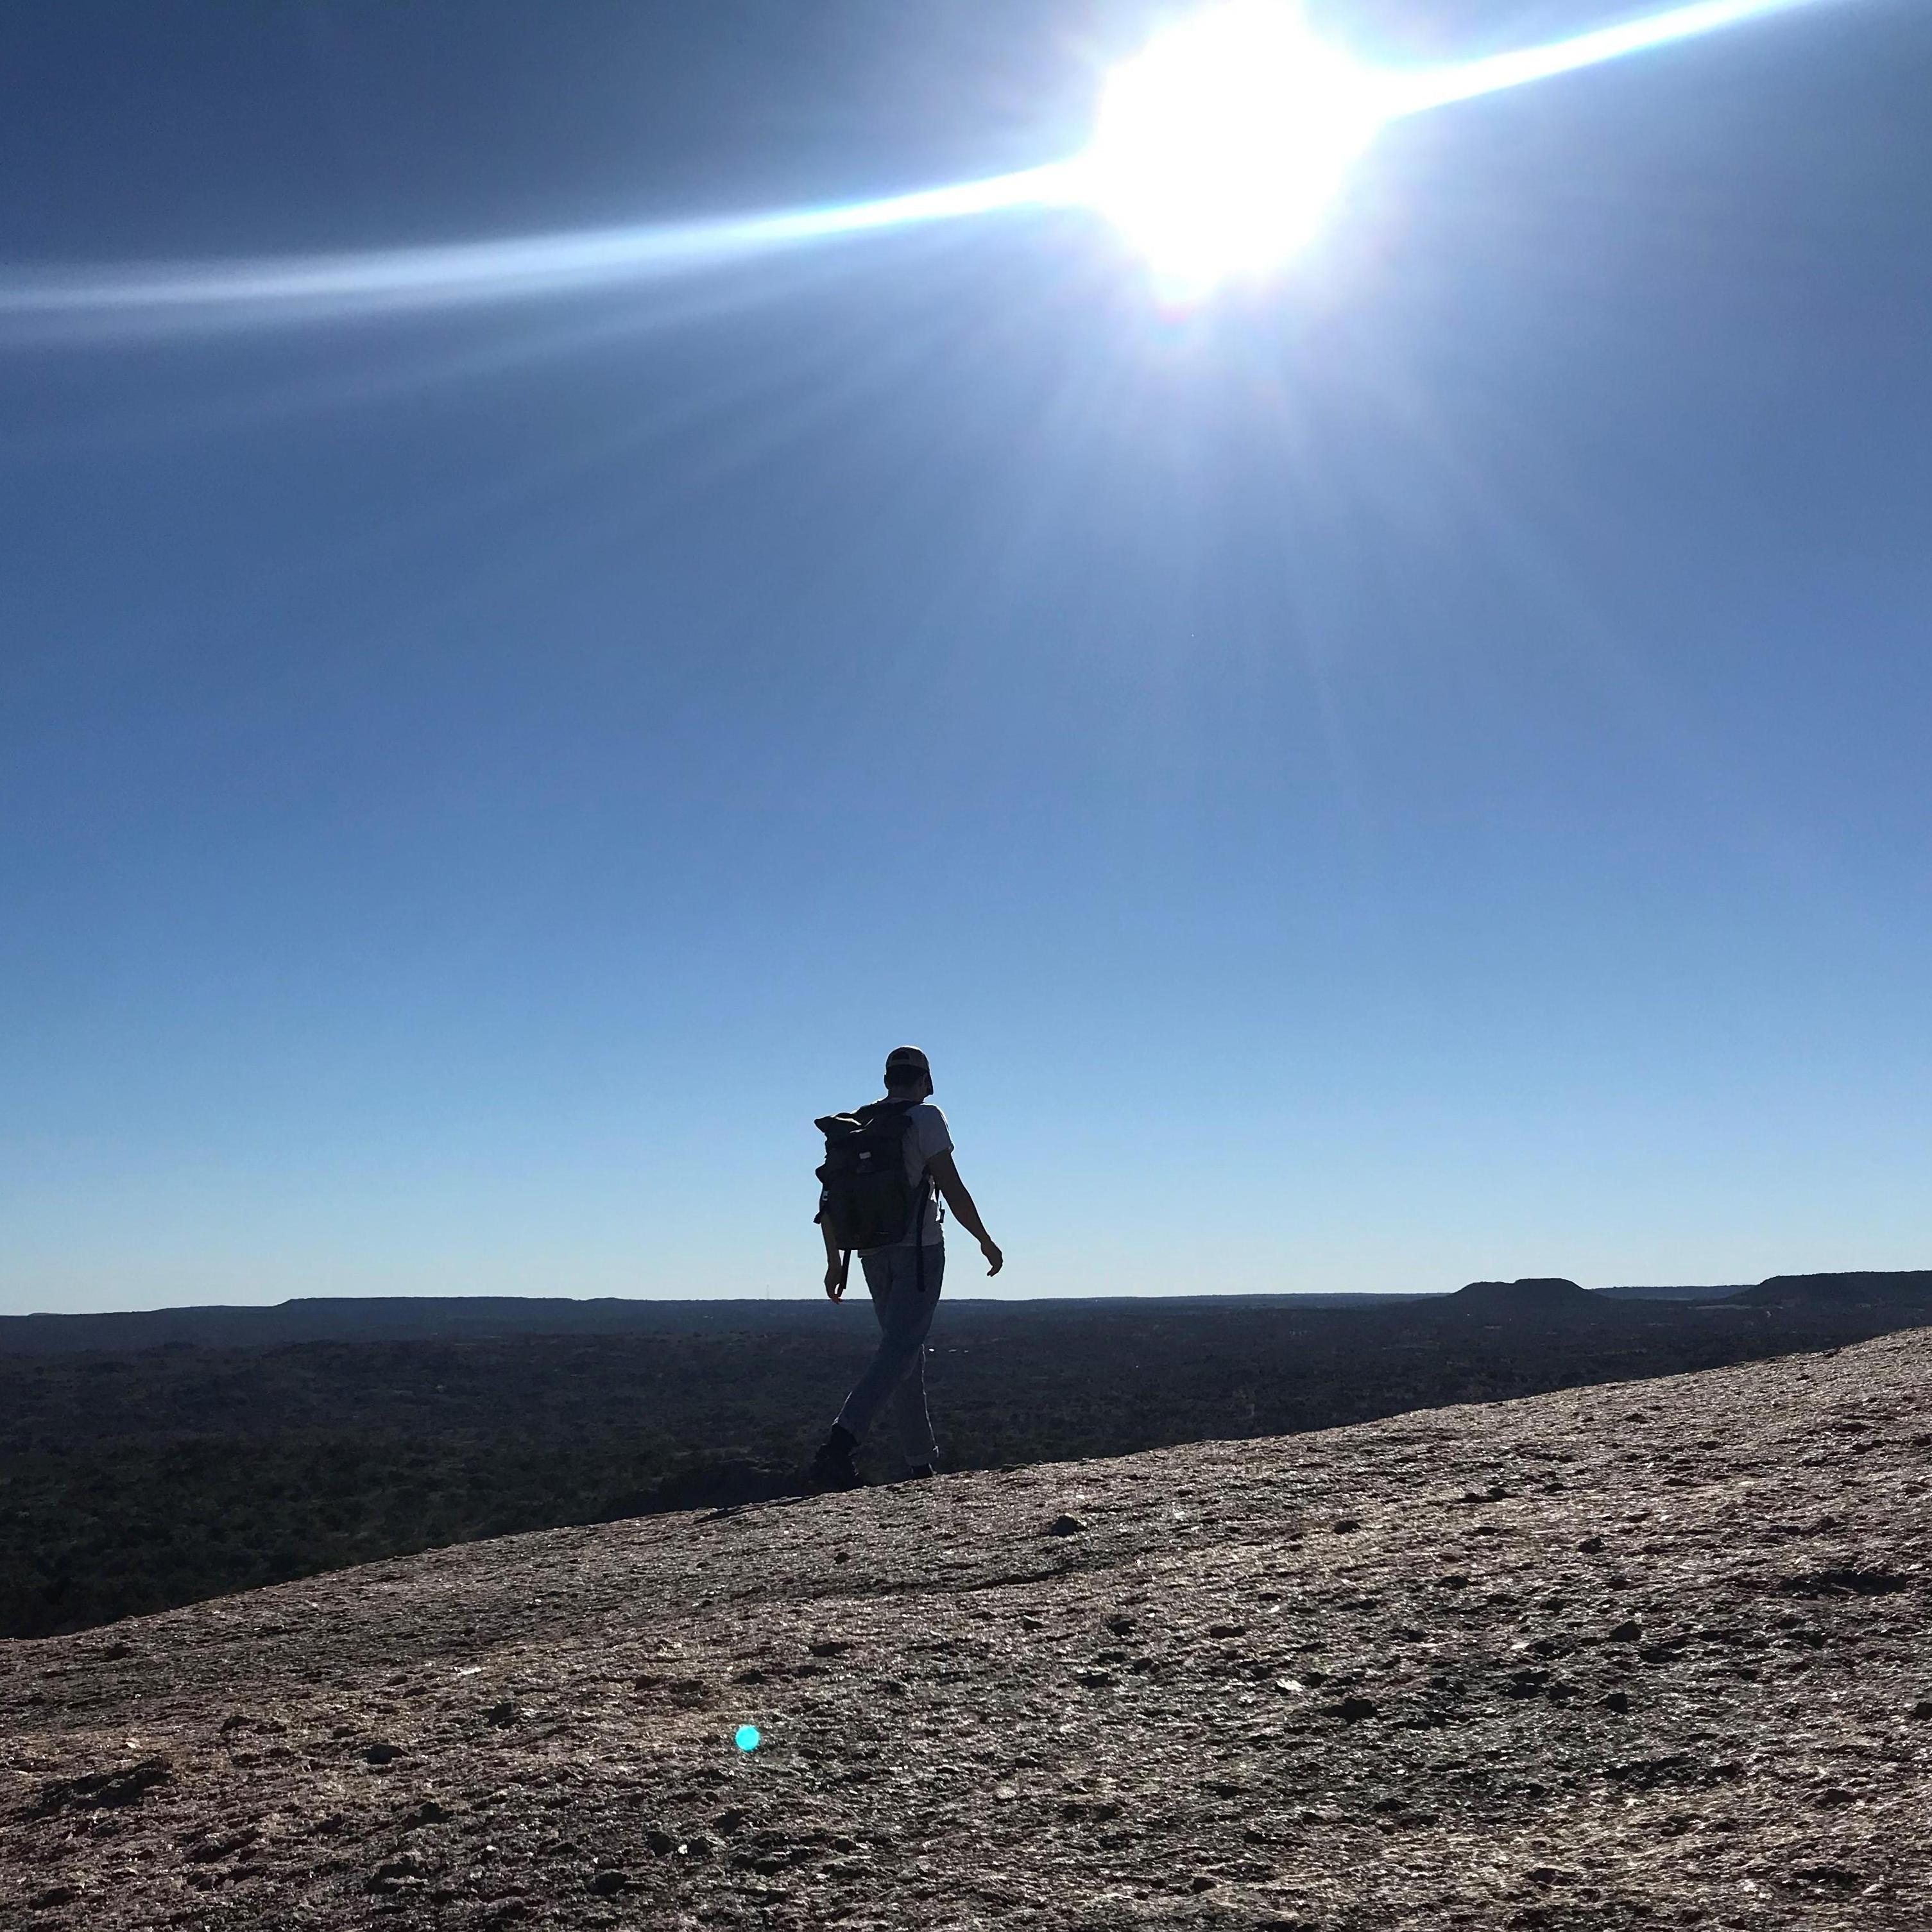
[[[1293,0],[1223,0],[1107,75],[1078,189],[1196,299],[1300,249],[1391,110]]]

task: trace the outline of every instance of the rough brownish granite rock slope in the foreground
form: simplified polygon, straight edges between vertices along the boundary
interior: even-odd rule
[[[0,1922],[1922,1932],[1928,1383],[1920,1329],[6,1644]]]

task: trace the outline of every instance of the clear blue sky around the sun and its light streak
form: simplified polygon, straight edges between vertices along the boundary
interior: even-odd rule
[[[1144,19],[15,8],[0,263],[997,174]],[[1010,1294],[1932,1265],[1928,99],[1441,108],[1186,315],[1063,209],[0,342],[0,1310],[811,1294],[908,1039]]]

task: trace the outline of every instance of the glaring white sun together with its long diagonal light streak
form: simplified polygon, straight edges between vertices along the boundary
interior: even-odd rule
[[[881,201],[444,247],[93,270],[0,270],[0,344],[83,344],[325,323],[645,284],[840,238],[1086,205],[1167,294],[1287,261],[1387,122],[1828,0],[1696,0],[1455,68],[1364,68],[1300,0],[1219,0],[1105,81],[1084,155]]]

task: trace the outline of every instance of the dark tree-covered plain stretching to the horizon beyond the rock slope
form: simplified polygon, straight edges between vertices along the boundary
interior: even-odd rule
[[[1932,1277],[1795,1279],[1712,1302],[1569,1283],[1381,1306],[962,1298],[941,1308],[927,1379],[947,1464],[997,1468],[1719,1368],[1932,1320]],[[740,1302],[719,1331],[676,1306],[647,1333],[0,1354],[0,1636],[788,1493],[867,1358],[869,1308]],[[898,1474],[887,1441],[869,1474]]]

